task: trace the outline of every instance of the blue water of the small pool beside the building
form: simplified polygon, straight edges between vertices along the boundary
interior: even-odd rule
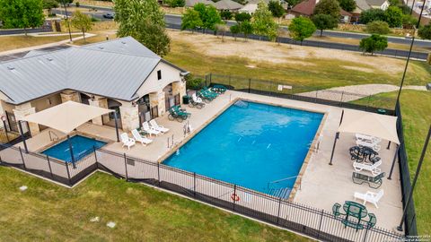
[[[87,138],[82,135],[75,135],[70,137],[72,142],[72,150],[74,151],[75,160],[82,158],[83,155],[93,150],[93,146],[96,148],[101,148],[105,145],[105,142],[101,142],[95,139]],[[57,143],[56,145],[50,147],[49,149],[42,151],[50,157],[57,158],[59,160],[65,160],[66,162],[71,162],[72,157],[70,155],[69,143],[67,140]]]

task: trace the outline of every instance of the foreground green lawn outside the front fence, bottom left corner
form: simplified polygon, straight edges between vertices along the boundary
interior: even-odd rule
[[[101,172],[73,189],[4,167],[0,177],[0,241],[308,241]]]

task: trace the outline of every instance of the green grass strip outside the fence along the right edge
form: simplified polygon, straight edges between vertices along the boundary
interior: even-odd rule
[[[383,93],[378,96],[396,99],[397,92]],[[374,99],[378,101],[379,99]],[[361,103],[366,100],[358,100]],[[404,139],[409,158],[409,171],[413,179],[418,167],[420,153],[431,124],[431,93],[429,91],[401,92],[401,113],[403,117]],[[386,105],[375,103],[375,105]],[[428,146],[418,183],[414,192],[419,234],[427,235],[431,231],[431,147]]]

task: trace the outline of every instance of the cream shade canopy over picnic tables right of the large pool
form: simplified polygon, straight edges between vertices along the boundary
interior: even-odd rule
[[[397,117],[344,109],[340,133],[366,134],[400,144]]]

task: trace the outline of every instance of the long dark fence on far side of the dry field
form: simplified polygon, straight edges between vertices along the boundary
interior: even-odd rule
[[[174,23],[167,23],[166,27],[173,30],[180,30],[181,26],[179,24]],[[197,31],[197,30],[195,30]],[[204,34],[215,34],[214,30],[200,30],[201,33]],[[230,31],[227,31],[225,33],[225,36],[233,36],[233,34]],[[237,38],[244,38],[242,34],[236,35]],[[269,41],[267,37],[265,36],[259,36],[255,34],[251,34],[247,36],[248,39],[255,39],[255,40],[261,40],[261,41]],[[348,51],[356,51],[356,52],[363,52],[359,49],[359,46],[356,45],[348,45],[348,44],[341,44],[341,43],[331,43],[331,42],[323,42],[323,41],[316,41],[316,40],[303,40],[301,43],[300,41],[296,41],[291,38],[287,37],[278,37],[277,42],[283,43],[283,44],[289,44],[289,45],[301,45],[301,46],[307,46],[307,47],[316,47],[316,48],[332,48],[332,49],[340,49],[340,50],[348,50]],[[393,57],[400,57],[400,58],[407,58],[409,55],[408,50],[401,50],[401,49],[392,49],[392,48],[386,48],[383,51],[376,51],[374,52],[374,55],[382,55],[382,56],[393,56]],[[418,60],[427,60],[428,53],[426,52],[418,52],[418,51],[412,51],[410,58],[418,59]]]

